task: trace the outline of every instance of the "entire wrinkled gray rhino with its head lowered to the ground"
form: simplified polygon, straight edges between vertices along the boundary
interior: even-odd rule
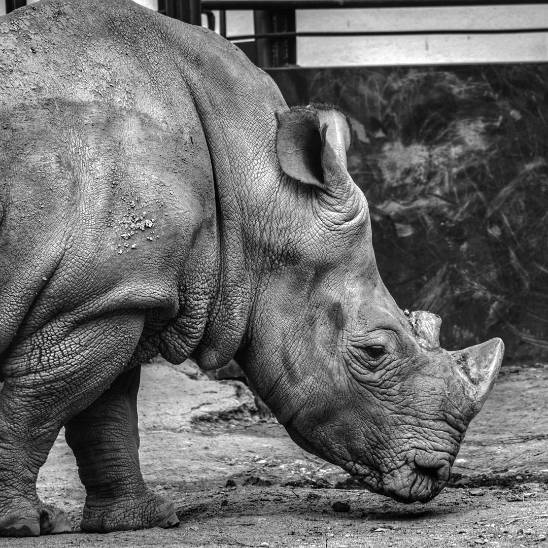
[[[289,110],[228,42],[128,0],[0,19],[0,532],[69,529],[36,495],[62,426],[82,528],[170,527],[139,471],[139,364],[238,362],[293,439],[426,501],[502,357],[439,348],[376,268],[339,112]],[[283,171],[282,171],[283,170]]]

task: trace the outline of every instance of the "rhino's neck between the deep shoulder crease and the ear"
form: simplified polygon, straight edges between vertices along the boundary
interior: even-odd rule
[[[178,47],[214,174],[218,284],[193,353],[209,369],[229,362],[246,336],[258,276],[248,234],[268,215],[261,191],[270,196],[279,182],[275,110],[287,105],[266,73],[216,35],[202,30],[181,36]]]

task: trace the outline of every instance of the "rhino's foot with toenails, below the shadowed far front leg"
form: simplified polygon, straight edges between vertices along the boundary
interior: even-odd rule
[[[82,530],[88,533],[178,526],[173,504],[151,491],[115,500],[88,495],[81,523]]]

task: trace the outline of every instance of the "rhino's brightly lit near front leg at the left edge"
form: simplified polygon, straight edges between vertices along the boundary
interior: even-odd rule
[[[130,311],[61,319],[14,343],[0,394],[0,536],[70,530],[62,512],[38,500],[38,470],[61,426],[121,373],[143,324]]]

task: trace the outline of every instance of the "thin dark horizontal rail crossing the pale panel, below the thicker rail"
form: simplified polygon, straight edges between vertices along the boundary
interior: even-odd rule
[[[543,28],[493,28],[487,30],[426,30],[426,31],[350,31],[350,32],[269,32],[257,35],[227,36],[231,41],[253,40],[255,38],[292,38],[292,37],[333,37],[333,36],[424,36],[424,35],[501,35],[521,34],[530,32],[548,32]]]

